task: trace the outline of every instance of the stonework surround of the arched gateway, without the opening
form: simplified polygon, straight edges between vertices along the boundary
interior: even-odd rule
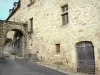
[[[3,52],[3,50],[4,50],[4,46],[6,45],[5,44],[5,40],[6,40],[6,35],[7,35],[7,33],[9,32],[9,31],[17,31],[17,32],[19,32],[20,34],[22,34],[22,39],[21,40],[23,40],[22,41],[22,55],[21,56],[23,56],[24,55],[24,53],[25,52],[23,52],[24,51],[24,49],[26,50],[26,28],[27,28],[27,26],[26,26],[26,24],[24,24],[24,23],[15,23],[15,22],[6,22],[6,23],[2,23],[2,25],[1,25],[1,27],[2,27],[2,33],[1,33],[1,39],[0,39],[0,41],[2,42],[0,45],[0,53],[1,53],[1,56],[2,56],[2,52]],[[9,40],[8,39],[8,41],[12,41],[12,40]],[[24,45],[25,44],[25,45]],[[25,47],[25,48],[24,48]]]

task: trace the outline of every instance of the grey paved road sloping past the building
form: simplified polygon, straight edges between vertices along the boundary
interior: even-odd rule
[[[0,60],[0,75],[67,75],[25,60]]]

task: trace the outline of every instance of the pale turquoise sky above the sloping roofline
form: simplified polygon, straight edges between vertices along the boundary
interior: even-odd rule
[[[0,20],[7,19],[9,9],[13,8],[14,2],[18,2],[18,0],[0,0]]]

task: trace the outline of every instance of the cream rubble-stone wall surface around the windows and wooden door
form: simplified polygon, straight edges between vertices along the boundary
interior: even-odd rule
[[[34,32],[31,37],[27,36],[27,50],[33,54],[39,51],[38,56],[45,64],[54,65],[59,62],[63,66],[62,69],[77,71],[76,43],[91,41],[94,45],[96,73],[98,73],[100,0],[36,0],[27,7],[28,1],[22,0],[20,8],[20,21],[29,23],[32,17],[34,21]],[[62,25],[61,6],[67,3],[69,23]],[[12,17],[16,19],[19,16]],[[59,54],[56,53],[55,46],[58,43],[61,45]]]

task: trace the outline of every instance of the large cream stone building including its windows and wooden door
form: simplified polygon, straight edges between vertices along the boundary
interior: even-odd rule
[[[20,0],[7,21],[27,24],[26,52],[44,64],[99,75],[100,0]]]

